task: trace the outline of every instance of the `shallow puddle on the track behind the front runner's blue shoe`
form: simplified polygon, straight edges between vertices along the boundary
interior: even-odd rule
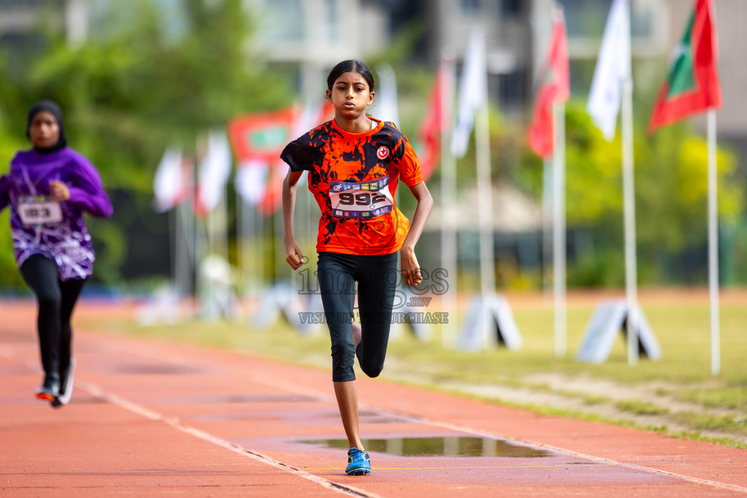
[[[493,438],[389,438],[362,439],[361,442],[368,451],[401,456],[503,456],[512,458],[552,456],[544,449],[519,446]],[[300,441],[300,443],[323,445],[335,449],[348,448],[347,439],[320,439]]]

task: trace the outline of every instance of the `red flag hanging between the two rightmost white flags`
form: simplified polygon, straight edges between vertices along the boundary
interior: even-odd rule
[[[562,10],[553,11],[553,34],[545,68],[540,72],[542,83],[537,89],[529,128],[530,149],[541,158],[553,153],[553,104],[566,102],[571,96],[568,70],[568,36]]]

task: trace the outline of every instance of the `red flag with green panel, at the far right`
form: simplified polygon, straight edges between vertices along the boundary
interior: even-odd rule
[[[713,0],[696,0],[685,34],[672,52],[669,76],[648,123],[648,134],[692,114],[722,105],[716,16]]]

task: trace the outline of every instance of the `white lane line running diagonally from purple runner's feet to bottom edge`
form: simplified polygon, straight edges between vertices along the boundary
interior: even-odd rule
[[[183,423],[177,417],[167,417],[163,414],[159,414],[157,411],[152,411],[149,408],[146,408],[142,405],[138,405],[137,403],[128,401],[127,399],[124,399],[122,396],[117,396],[116,394],[107,393],[104,390],[102,390],[100,387],[98,387],[97,385],[93,385],[90,382],[78,381],[76,382],[76,385],[78,387],[81,387],[84,390],[87,390],[93,396],[99,397],[101,399],[104,399],[107,402],[110,402],[112,405],[117,405],[120,408],[124,408],[125,410],[131,411],[134,414],[141,415],[150,420],[161,421],[167,424],[167,426],[170,426],[172,429],[176,429],[178,431],[184,432],[185,434],[192,435],[195,438],[202,439],[202,441],[213,443],[216,446],[220,446],[221,448],[228,449],[229,451],[238,453],[239,455],[252,458],[252,460],[260,461],[263,464],[276,467],[277,469],[280,469],[280,470],[285,470],[288,473],[294,474],[294,476],[299,476],[299,477],[302,477],[303,479],[308,479],[309,481],[315,482],[316,484],[321,485],[324,488],[327,488],[331,491],[336,491],[338,493],[345,494],[347,496],[354,496],[354,497],[384,498],[378,494],[373,494],[370,491],[364,491],[362,489],[355,488],[350,485],[339,484],[337,482],[330,481],[329,479],[324,479],[323,477],[306,472],[306,470],[301,470],[301,469],[297,469],[296,467],[291,467],[290,465],[286,465],[282,463],[281,461],[277,461],[273,458],[270,458],[267,455],[263,455],[260,452],[256,452],[256,451],[253,451],[252,449],[244,448],[243,446],[239,446],[238,444],[234,444],[234,443],[231,443],[230,441],[226,441],[223,438],[218,438],[217,436],[211,435],[208,432],[201,431],[191,426],[187,426],[187,424]]]

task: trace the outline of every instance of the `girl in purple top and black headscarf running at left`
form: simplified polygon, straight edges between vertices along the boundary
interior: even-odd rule
[[[39,345],[44,382],[37,398],[65,405],[72,393],[70,316],[84,281],[93,272],[93,245],[84,211],[110,217],[111,202],[99,173],[67,146],[58,105],[37,102],[28,112],[21,151],[0,176],[0,210],[10,205],[13,256],[39,302]]]

